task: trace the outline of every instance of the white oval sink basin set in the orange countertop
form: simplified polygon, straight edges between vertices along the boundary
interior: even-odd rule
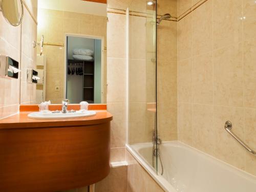
[[[75,112],[75,113],[33,112],[28,114],[28,117],[31,119],[73,119],[73,118],[90,117],[94,115],[96,115],[95,111]]]

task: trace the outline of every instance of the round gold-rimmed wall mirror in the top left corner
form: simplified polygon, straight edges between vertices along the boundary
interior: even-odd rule
[[[23,18],[22,0],[0,0],[0,8],[7,22],[12,26],[18,26]]]

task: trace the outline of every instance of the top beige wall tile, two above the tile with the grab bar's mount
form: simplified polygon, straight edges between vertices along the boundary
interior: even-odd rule
[[[214,49],[242,40],[242,3],[241,0],[214,1]]]

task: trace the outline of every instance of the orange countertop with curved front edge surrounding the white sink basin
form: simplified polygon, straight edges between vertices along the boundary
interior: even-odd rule
[[[20,105],[22,106],[22,105]],[[27,105],[33,106],[33,105]],[[63,126],[85,126],[100,124],[111,121],[113,116],[106,110],[94,110],[96,115],[91,117],[73,118],[73,119],[31,119],[28,114],[33,112],[20,110],[18,114],[0,120],[0,130],[3,129],[26,129],[37,127],[63,127]],[[49,106],[50,109],[50,106]],[[90,109],[90,108],[89,108]]]

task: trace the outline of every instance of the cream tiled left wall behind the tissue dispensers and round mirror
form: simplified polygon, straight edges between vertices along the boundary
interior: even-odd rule
[[[37,1],[26,1],[29,5],[24,7],[24,19],[22,25],[13,27],[8,24],[0,13],[0,54],[8,55],[17,60],[20,64],[21,73],[19,79],[9,79],[0,77],[0,118],[15,114],[18,110],[20,101],[33,103],[34,102],[34,87],[32,84],[26,83],[24,90],[28,93],[27,97],[20,97],[19,87],[20,81],[24,82],[26,67],[34,66],[35,52],[32,47],[32,41],[36,40],[36,10]],[[33,12],[32,16],[29,12]],[[33,19],[34,18],[34,19]],[[28,28],[27,28],[28,27]],[[25,84],[25,83],[23,83]]]

